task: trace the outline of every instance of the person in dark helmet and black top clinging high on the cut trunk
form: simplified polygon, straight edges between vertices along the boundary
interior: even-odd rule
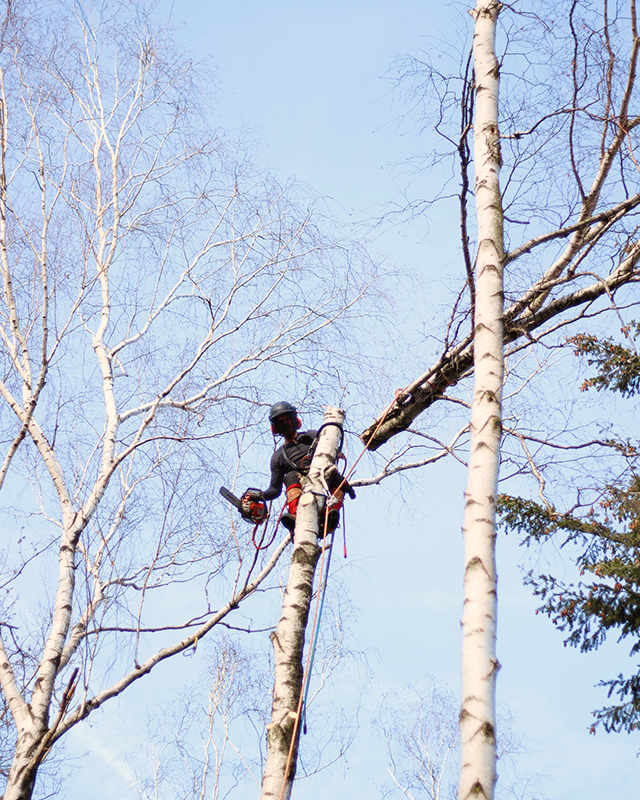
[[[281,400],[271,406],[269,422],[273,435],[282,436],[284,444],[271,456],[271,483],[261,494],[264,500],[273,500],[280,496],[282,486],[286,487],[287,511],[282,515],[280,521],[287,530],[292,531],[295,528],[298,500],[311,466],[318,431],[310,430],[298,433],[302,422],[296,408],[286,400]],[[327,476],[327,485],[333,497],[327,519],[327,532],[330,533],[338,526],[345,492],[351,498],[354,498],[356,493],[335,467],[332,467]],[[248,489],[244,496],[247,496],[250,491],[254,490]]]

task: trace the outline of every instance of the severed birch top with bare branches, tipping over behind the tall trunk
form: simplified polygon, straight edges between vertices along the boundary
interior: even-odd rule
[[[552,24],[544,9],[533,11],[527,16],[505,7],[499,23],[506,32],[498,53],[498,122],[507,357],[538,343],[555,344],[568,327],[584,328],[607,308],[624,304],[628,295],[621,288],[640,277],[635,4],[591,8],[573,2],[554,9]],[[471,62],[463,58],[458,74],[443,74],[425,55],[410,59],[404,74],[414,80],[405,91],[415,87],[417,98],[433,109],[445,142],[437,158],[449,158],[458,173],[464,283],[435,358],[428,361],[425,354],[418,375],[362,433],[371,450],[414,429],[424,411],[451,394],[448,387],[473,371]]]

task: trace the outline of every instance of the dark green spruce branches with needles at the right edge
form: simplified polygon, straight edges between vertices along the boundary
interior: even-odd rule
[[[597,367],[597,375],[584,382],[583,390],[606,389],[625,397],[640,392],[640,325],[634,322],[622,333],[625,344],[586,334],[573,337],[576,354]],[[505,529],[523,534],[527,544],[560,535],[563,546],[579,548],[577,583],[533,572],[526,579],[542,601],[538,612],[547,614],[565,634],[565,645],[589,652],[608,634],[616,634],[618,641],[631,641],[633,657],[640,653],[640,472],[633,469],[637,443],[620,443],[619,449],[631,459],[630,478],[624,485],[603,486],[600,501],[584,514],[562,513],[507,495],[500,496],[498,509]],[[607,688],[612,702],[593,712],[591,732],[598,725],[607,732],[639,730],[640,664],[635,674],[620,673],[599,685]]]

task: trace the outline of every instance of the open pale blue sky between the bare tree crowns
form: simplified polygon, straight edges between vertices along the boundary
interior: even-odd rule
[[[220,124],[255,130],[263,162],[283,179],[295,176],[333,198],[332,210],[343,219],[397,200],[399,184],[388,165],[422,144],[401,136],[395,122],[400,108],[385,79],[395,56],[429,47],[429,37],[455,41],[469,35],[468,27],[459,28],[466,22],[459,9],[432,0],[181,0],[172,8],[180,41],[218,67],[214,113]],[[376,247],[391,263],[413,266],[436,286],[456,263],[456,235],[455,216],[434,212],[392,231]],[[420,329],[419,315],[410,317],[415,309],[404,313],[408,324]],[[422,366],[416,358],[416,373]],[[453,687],[458,681],[464,471],[459,465],[439,466],[412,480],[408,502],[426,506],[425,515],[402,506],[397,485],[361,490],[348,508],[348,585],[359,609],[355,636],[371,653],[376,671],[365,705],[375,704],[377,691],[416,682],[425,673]],[[616,657],[627,658],[626,651],[581,656],[564,649],[549,621],[534,614],[535,603],[521,585],[521,557],[515,538],[502,537],[498,694],[530,750],[520,769],[548,776],[540,795],[548,800],[637,797],[640,739],[587,733],[591,709],[604,701],[602,690],[592,687],[627,667],[616,663]],[[156,680],[160,686],[160,677],[149,679]],[[348,686],[354,695],[364,691],[355,678]],[[119,726],[127,727],[126,715],[114,708],[105,710],[102,720],[93,723],[90,738],[106,753],[92,778],[104,793],[92,794],[80,772],[71,792],[124,797],[129,773],[124,767],[120,777],[118,770],[110,772],[109,758],[122,746]],[[98,737],[103,722],[113,734]],[[331,775],[304,782],[294,794],[298,800],[375,798],[370,781],[384,778],[383,758],[365,723],[344,763]]]

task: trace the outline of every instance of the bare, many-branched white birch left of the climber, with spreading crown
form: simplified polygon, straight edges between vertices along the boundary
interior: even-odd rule
[[[10,4],[1,36],[13,800],[73,726],[267,580],[288,540],[256,553],[217,479],[271,365],[321,371],[366,280],[293,188],[211,130],[198,70],[143,7]]]

